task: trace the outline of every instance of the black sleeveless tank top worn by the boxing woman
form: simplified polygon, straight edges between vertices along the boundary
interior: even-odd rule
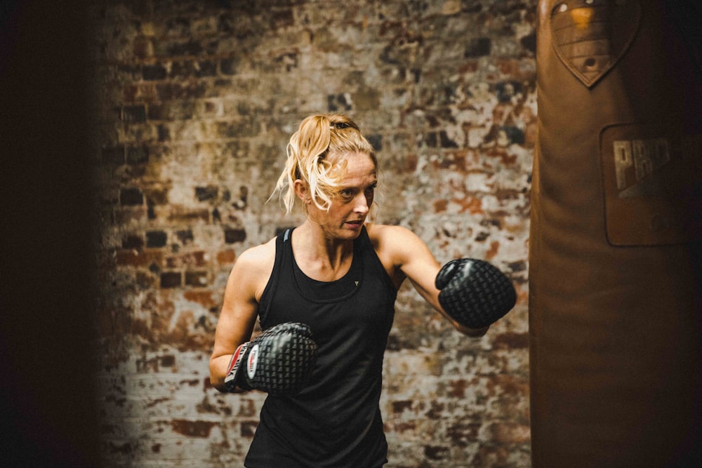
[[[365,227],[349,272],[329,283],[300,271],[291,235],[288,229],[276,240],[260,323],[307,323],[317,365],[300,394],[267,396],[246,467],[380,467],[388,461],[379,408],[383,354],[397,290]]]

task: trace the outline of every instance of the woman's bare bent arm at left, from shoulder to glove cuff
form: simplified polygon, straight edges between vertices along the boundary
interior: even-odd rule
[[[227,279],[222,311],[210,358],[210,382],[225,392],[224,379],[237,347],[251,339],[258,316],[258,301],[273,269],[274,243],[242,253]]]

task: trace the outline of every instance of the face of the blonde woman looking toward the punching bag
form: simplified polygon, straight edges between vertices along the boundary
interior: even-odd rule
[[[346,156],[346,174],[331,197],[329,211],[310,203],[307,214],[331,239],[355,239],[366,221],[378,184],[376,165],[366,153]]]

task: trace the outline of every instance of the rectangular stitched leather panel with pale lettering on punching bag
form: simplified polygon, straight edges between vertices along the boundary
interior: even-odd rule
[[[615,246],[684,243],[702,236],[702,133],[647,123],[600,133],[607,239]]]

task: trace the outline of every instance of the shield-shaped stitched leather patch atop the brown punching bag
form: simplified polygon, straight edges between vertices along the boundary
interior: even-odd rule
[[[639,29],[636,0],[564,0],[551,10],[556,55],[592,88],[624,55]]]

